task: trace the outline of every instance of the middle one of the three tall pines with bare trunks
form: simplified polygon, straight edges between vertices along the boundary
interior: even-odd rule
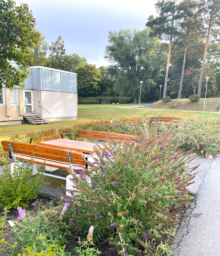
[[[185,13],[184,21],[181,23],[181,27],[185,30],[185,51],[183,58],[183,68],[182,75],[179,86],[178,99],[182,98],[183,89],[183,77],[185,71],[186,57],[187,57],[187,47],[192,43],[197,43],[201,39],[201,34],[203,30],[203,20],[196,16],[196,11],[198,8],[198,2],[195,0],[184,0],[180,8]]]

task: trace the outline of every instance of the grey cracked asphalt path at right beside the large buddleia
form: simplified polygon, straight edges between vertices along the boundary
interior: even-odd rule
[[[196,198],[187,209],[172,245],[172,256],[220,256],[220,157],[199,158],[195,183]]]

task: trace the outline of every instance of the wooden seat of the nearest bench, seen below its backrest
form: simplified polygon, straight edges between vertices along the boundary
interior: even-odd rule
[[[31,158],[27,155],[20,155],[20,154],[16,154],[16,158],[18,160],[24,160],[27,162],[33,162],[33,163],[37,163],[37,164],[44,164],[47,166],[51,166],[51,167],[56,167],[56,168],[61,168],[61,169],[69,169],[69,164],[68,163],[64,163],[64,162],[57,162],[57,161],[52,161],[50,159],[42,159],[42,158]],[[80,169],[80,166],[77,164],[72,164],[73,170],[76,169]]]

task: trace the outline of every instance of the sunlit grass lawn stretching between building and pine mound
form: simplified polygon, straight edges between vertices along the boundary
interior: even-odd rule
[[[147,116],[161,116],[161,115],[182,115],[182,116],[200,116],[201,112],[190,112],[190,111],[203,111],[204,99],[200,99],[198,103],[190,103],[188,99],[175,99],[172,102],[181,102],[182,105],[178,108],[170,108],[169,103],[164,103],[162,101],[155,102],[155,106],[153,109],[148,107],[141,106],[134,108],[121,108],[121,107],[131,107],[131,106],[139,106],[139,104],[111,104],[106,106],[101,106],[101,104],[94,105],[78,105],[78,117],[77,120],[64,120],[64,121],[53,121],[49,124],[44,125],[5,125],[0,126],[0,141],[3,139],[8,139],[12,135],[19,134],[20,136],[26,135],[27,131],[37,131],[46,128],[56,128],[59,129],[61,127],[73,126],[74,124],[82,121],[91,121],[91,120],[100,120],[100,119],[108,119],[110,121],[111,118],[115,120],[133,117],[144,114]],[[220,104],[219,98],[208,98],[206,99],[206,111],[218,112],[215,108],[218,104]],[[143,103],[141,104],[143,105]],[[163,109],[163,110],[155,110],[155,109]],[[187,111],[188,110],[188,111]],[[190,110],[190,111],[189,111]],[[205,116],[208,116],[210,119],[218,119],[218,113],[205,113]]]

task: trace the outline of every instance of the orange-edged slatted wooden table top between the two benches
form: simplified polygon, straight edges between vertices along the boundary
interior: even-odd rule
[[[59,149],[69,149],[85,153],[95,153],[94,146],[97,148],[95,143],[71,140],[71,139],[53,139],[48,141],[40,142],[39,144]],[[102,144],[99,144],[102,149],[106,149]]]

